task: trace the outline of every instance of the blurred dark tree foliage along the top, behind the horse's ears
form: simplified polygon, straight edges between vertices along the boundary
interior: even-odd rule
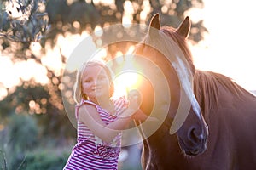
[[[82,32],[85,29],[93,31],[96,26],[108,26],[117,23],[122,23],[122,17],[125,15],[125,3],[128,1],[119,0],[114,1],[114,5],[108,3],[86,3],[84,0],[73,0],[73,3],[68,4],[67,1],[52,0],[47,3],[46,12],[49,14],[49,24],[52,26],[49,38],[55,38],[58,34],[65,34],[67,31],[73,33]],[[103,1],[102,1],[103,2]],[[148,15],[146,20],[149,21],[151,16],[155,13],[160,13],[161,23],[163,26],[178,26],[184,19],[184,12],[189,8],[202,8],[202,0],[175,0],[175,1],[161,1],[161,0],[131,0],[131,5],[135,8],[134,13],[131,14],[133,23],[143,23],[140,14],[145,10],[146,4],[149,3]],[[163,7],[166,9],[163,12]],[[80,11],[79,13],[77,11]],[[73,22],[79,22],[79,27],[73,25]],[[56,26],[58,24],[58,26]],[[145,24],[149,24],[145,22]],[[192,24],[190,39],[195,42],[200,41],[202,33],[207,31],[203,26],[202,21]],[[55,32],[55,33],[54,33]],[[113,37],[117,40],[119,37]],[[53,44],[54,45],[54,44]]]

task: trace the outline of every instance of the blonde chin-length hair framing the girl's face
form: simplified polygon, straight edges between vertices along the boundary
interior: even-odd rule
[[[114,92],[114,87],[113,87],[113,72],[108,68],[107,65],[104,65],[102,62],[100,61],[89,61],[84,63],[83,65],[81,65],[81,67],[79,68],[79,71],[77,72],[77,77],[76,77],[76,82],[74,84],[74,95],[73,98],[75,100],[76,103],[80,103],[82,99],[88,99],[86,94],[83,94],[82,92],[82,77],[83,77],[83,73],[84,70],[87,66],[89,65],[96,65],[96,66],[100,66],[102,67],[102,69],[104,69],[104,71],[106,71],[107,76],[108,76],[108,80],[110,83],[110,96],[111,97],[113,95]]]

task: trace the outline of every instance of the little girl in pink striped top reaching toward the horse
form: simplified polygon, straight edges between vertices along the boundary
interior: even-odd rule
[[[74,86],[78,139],[64,169],[117,169],[121,131],[139,105],[136,95],[129,102],[110,100],[112,95],[112,76],[106,65],[90,61],[81,66]]]

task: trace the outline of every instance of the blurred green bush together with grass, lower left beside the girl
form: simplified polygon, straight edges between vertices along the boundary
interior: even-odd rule
[[[60,150],[55,148],[55,139],[48,140],[38,138],[40,128],[36,120],[28,115],[13,115],[6,127],[8,138],[4,151],[1,149],[0,162],[5,165],[4,169],[61,169],[64,167],[70,153],[70,149]],[[1,134],[1,133],[0,133]],[[1,135],[3,136],[3,135]],[[43,144],[44,143],[44,144]],[[38,146],[40,146],[38,148]],[[53,148],[44,150],[43,147]],[[2,164],[2,163],[1,163]],[[2,168],[2,167],[0,167]]]

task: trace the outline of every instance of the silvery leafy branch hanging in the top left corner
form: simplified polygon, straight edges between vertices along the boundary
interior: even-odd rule
[[[1,3],[0,36],[15,42],[35,42],[48,29],[44,0],[9,0]]]

